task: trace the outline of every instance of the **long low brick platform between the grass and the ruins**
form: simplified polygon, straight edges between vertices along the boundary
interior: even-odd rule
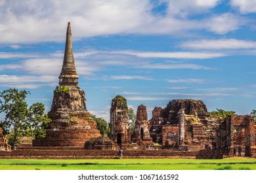
[[[170,150],[124,150],[125,159],[196,158],[197,152]],[[116,159],[118,150],[85,150],[81,147],[31,147],[0,152],[1,159]]]

